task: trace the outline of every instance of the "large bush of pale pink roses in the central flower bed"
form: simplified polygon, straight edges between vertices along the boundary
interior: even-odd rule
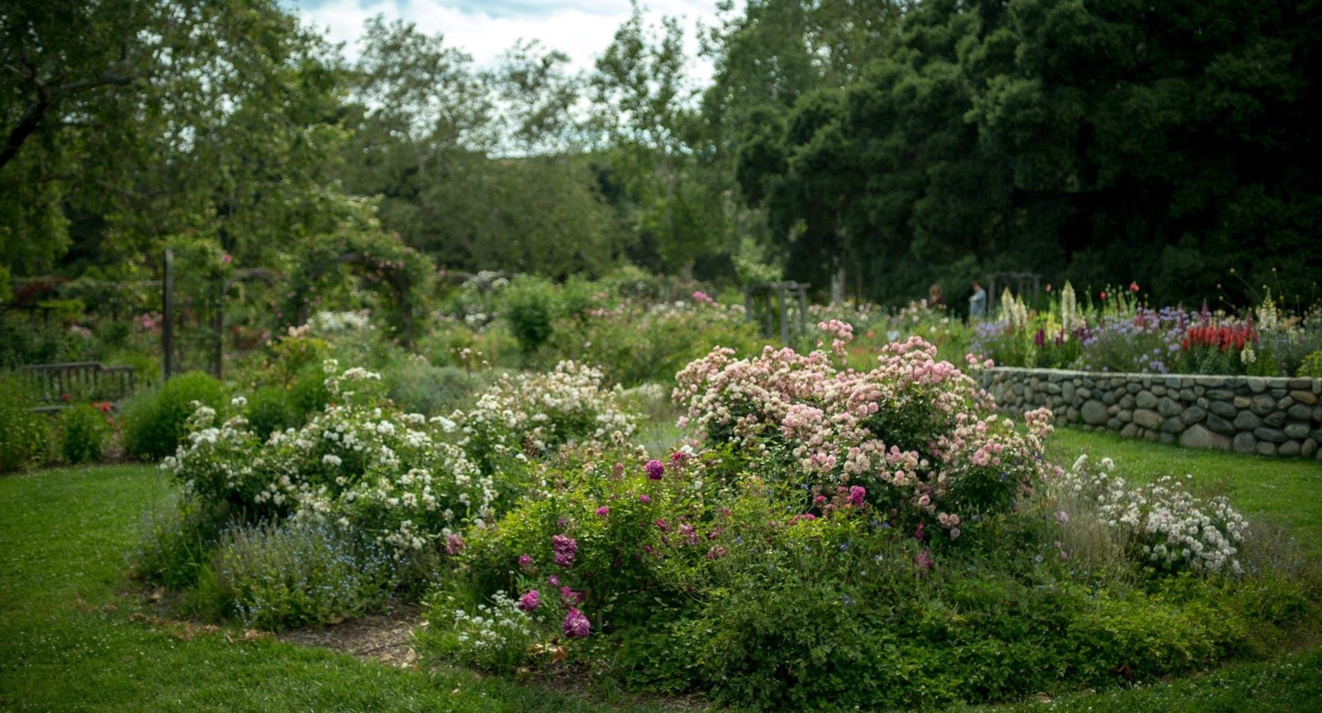
[[[834,320],[818,326],[851,335]],[[736,442],[822,485],[902,489],[915,515],[941,512],[952,539],[960,519],[948,512],[951,492],[966,479],[1010,494],[1029,487],[1044,473],[1052,421],[1047,409],[1029,412],[1021,433],[988,415],[992,396],[919,337],[887,345],[871,371],[837,368],[822,350],[765,347],[735,359],[715,349],[678,374],[673,399],[709,441]],[[862,499],[849,492],[850,503]]]

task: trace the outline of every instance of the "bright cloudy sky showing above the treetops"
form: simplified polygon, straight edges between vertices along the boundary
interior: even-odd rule
[[[333,42],[344,42],[349,58],[358,55],[356,41],[369,17],[403,18],[418,29],[442,33],[446,44],[473,55],[479,66],[490,66],[516,40],[538,40],[546,48],[570,55],[572,66],[590,70],[616,28],[628,20],[629,0],[283,0],[305,24],[316,25]],[[691,66],[689,75],[705,82],[707,62],[694,58],[698,22],[717,21],[717,0],[648,0],[645,16],[682,17]]]

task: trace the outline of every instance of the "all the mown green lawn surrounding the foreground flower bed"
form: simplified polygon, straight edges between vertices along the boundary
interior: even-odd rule
[[[1064,430],[1063,453],[1109,456],[1134,477],[1192,473],[1317,551],[1322,467]],[[7,710],[660,710],[460,671],[420,672],[241,631],[135,621],[122,594],[143,511],[168,495],[147,466],[0,478],[0,708]],[[1103,693],[992,710],[1280,710],[1322,702],[1322,648]]]

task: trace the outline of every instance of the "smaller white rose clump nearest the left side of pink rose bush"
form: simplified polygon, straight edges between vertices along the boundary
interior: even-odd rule
[[[602,379],[599,370],[576,362],[561,362],[545,374],[506,374],[471,411],[456,411],[451,420],[463,424],[461,445],[486,466],[493,458],[541,454],[562,444],[623,442],[635,419],[620,405],[620,388],[603,388]]]

